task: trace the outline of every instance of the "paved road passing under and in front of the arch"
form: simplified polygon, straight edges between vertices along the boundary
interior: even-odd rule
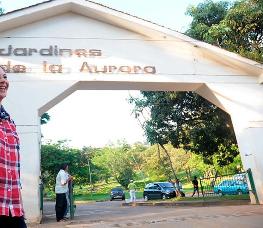
[[[153,206],[119,206],[122,201],[77,204],[75,219],[55,221],[55,203],[44,202],[41,225],[28,227],[229,227],[262,228],[263,205],[174,208]]]

